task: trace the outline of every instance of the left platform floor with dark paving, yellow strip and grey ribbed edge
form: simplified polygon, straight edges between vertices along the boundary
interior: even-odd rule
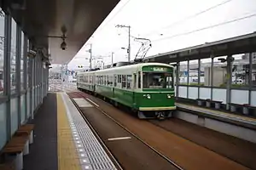
[[[66,93],[49,93],[31,123],[24,169],[117,169]]]

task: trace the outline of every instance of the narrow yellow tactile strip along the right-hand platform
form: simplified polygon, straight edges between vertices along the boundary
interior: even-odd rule
[[[177,103],[178,105],[183,105],[181,103]],[[244,121],[249,121],[249,122],[256,122],[256,119],[255,118],[251,118],[251,117],[247,117],[247,116],[238,116],[238,115],[232,115],[230,113],[226,113],[226,112],[223,112],[223,111],[212,111],[210,109],[207,109],[207,108],[201,108],[201,107],[197,107],[197,106],[194,106],[194,105],[183,105],[183,106],[189,106],[190,108],[194,108],[198,111],[208,111],[208,112],[212,112],[213,114],[216,114],[216,115],[223,115],[223,116],[229,116],[229,117],[233,117],[233,118],[236,118],[236,119],[241,119],[241,120],[244,120]]]

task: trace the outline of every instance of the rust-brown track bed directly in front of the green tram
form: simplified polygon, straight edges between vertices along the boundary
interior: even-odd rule
[[[221,156],[236,161],[245,167],[256,169],[256,164],[254,163],[256,144],[176,118],[164,122],[157,120],[150,120],[149,122],[166,131],[175,133],[183,139],[187,139]]]

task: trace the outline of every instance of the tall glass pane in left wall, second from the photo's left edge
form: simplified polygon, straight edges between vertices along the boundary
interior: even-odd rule
[[[16,35],[17,25],[14,19],[12,19],[12,30],[11,30],[11,54],[10,54],[10,89],[11,93],[16,92]]]

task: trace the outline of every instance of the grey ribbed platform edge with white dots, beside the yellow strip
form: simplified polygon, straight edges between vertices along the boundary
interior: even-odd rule
[[[82,170],[116,170],[102,145],[99,144],[90,127],[84,122],[77,108],[67,94],[61,94],[65,103],[67,118],[73,132],[73,140],[79,154]]]

